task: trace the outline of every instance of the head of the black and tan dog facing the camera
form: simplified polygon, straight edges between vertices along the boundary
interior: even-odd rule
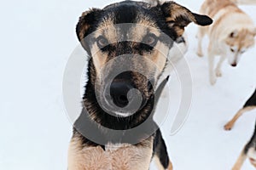
[[[100,97],[109,101],[105,109],[119,116],[131,115],[122,108],[132,103],[138,91],[140,101],[132,104],[139,103],[139,108],[147,104],[165,69],[173,41],[191,22],[207,26],[212,20],[172,1],[156,6],[125,1],[82,14],[76,31],[91,57],[90,81],[101,92]],[[132,89],[138,91],[130,93]]]

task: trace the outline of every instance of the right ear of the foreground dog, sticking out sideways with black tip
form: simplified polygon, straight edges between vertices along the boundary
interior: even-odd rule
[[[170,27],[174,28],[178,37],[183,35],[184,27],[188,26],[191,22],[199,26],[212,24],[212,19],[207,15],[192,13],[188,8],[172,1],[163,3],[160,5],[160,8],[166,17],[166,22]]]

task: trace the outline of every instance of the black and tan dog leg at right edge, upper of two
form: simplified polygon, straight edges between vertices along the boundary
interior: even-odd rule
[[[225,130],[231,130],[231,128],[236,123],[237,119],[242,116],[247,111],[252,111],[253,109],[256,109],[256,89],[253,93],[253,95],[247,100],[245,105],[241,108],[241,110],[237,111],[236,115],[228,122],[225,126]]]

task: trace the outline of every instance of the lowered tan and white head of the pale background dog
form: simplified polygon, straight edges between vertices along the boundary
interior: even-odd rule
[[[227,56],[231,66],[236,66],[241,59],[241,54],[254,45],[256,29],[241,29],[232,31],[225,42],[227,47]]]

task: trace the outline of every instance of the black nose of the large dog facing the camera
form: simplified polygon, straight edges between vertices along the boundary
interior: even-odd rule
[[[130,81],[118,80],[112,82],[110,86],[110,95],[114,105],[121,108],[129,104],[128,92],[133,89],[134,86]]]

